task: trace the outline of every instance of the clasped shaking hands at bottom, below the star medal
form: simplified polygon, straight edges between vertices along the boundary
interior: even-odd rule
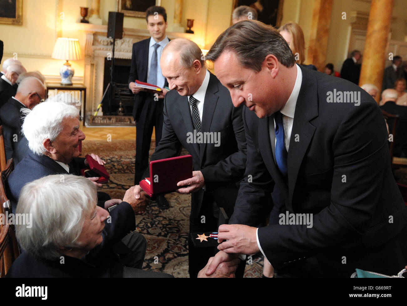
[[[227,254],[219,251],[215,257],[211,257],[208,263],[198,273],[199,278],[233,278],[239,265],[239,258],[236,254]]]

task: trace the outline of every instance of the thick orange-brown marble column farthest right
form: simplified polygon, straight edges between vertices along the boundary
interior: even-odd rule
[[[372,0],[370,5],[359,86],[365,83],[376,85],[379,88],[376,101],[380,100],[385,61],[389,57],[386,50],[393,5],[394,0]]]

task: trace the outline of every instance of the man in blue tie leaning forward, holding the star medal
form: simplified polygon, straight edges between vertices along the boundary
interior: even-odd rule
[[[219,227],[218,249],[230,258],[261,251],[283,276],[396,274],[406,263],[407,212],[381,111],[360,87],[295,65],[289,51],[273,27],[245,21],[206,55],[234,105],[247,107],[245,176],[252,175],[229,225]],[[286,213],[257,229],[274,184]]]

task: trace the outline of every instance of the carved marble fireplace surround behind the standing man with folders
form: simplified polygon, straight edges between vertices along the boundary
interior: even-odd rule
[[[112,57],[112,39],[107,38],[107,25],[81,24],[85,32],[85,69],[83,82],[87,87],[85,115],[93,115],[103,96],[103,77],[105,58]],[[167,32],[169,39],[193,39],[194,34]],[[150,37],[144,29],[123,28],[123,38],[116,39],[114,57],[116,59],[131,59],[133,43]],[[98,116],[102,116],[101,109]]]

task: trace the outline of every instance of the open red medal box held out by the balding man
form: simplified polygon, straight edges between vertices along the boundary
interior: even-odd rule
[[[192,156],[183,155],[150,162],[150,177],[140,181],[140,188],[150,197],[174,192],[179,181],[192,177]]]

